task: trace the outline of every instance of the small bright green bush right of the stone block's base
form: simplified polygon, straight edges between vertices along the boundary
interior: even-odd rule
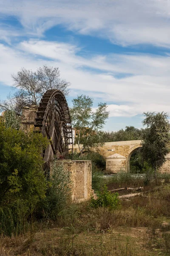
[[[94,208],[103,207],[110,210],[118,209],[120,206],[119,194],[111,193],[108,191],[108,187],[104,185],[103,191],[99,192],[98,198],[91,198],[91,206]]]

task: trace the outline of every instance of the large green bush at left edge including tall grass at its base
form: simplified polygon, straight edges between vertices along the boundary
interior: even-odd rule
[[[11,236],[24,230],[45,198],[40,153],[47,144],[41,134],[25,134],[0,123],[0,233]]]

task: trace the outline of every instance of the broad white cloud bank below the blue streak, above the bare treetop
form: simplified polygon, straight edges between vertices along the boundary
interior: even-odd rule
[[[81,91],[109,102],[110,116],[135,116],[146,111],[170,113],[168,55],[112,54],[83,58],[78,53],[79,47],[57,42],[24,41],[15,49],[1,44],[0,82],[11,85],[11,73],[17,73],[21,67],[35,70],[47,64],[59,67],[61,76],[71,82],[74,96]],[[99,69],[99,73],[92,71],[92,67]],[[114,76],[117,72],[132,75],[117,79]]]

